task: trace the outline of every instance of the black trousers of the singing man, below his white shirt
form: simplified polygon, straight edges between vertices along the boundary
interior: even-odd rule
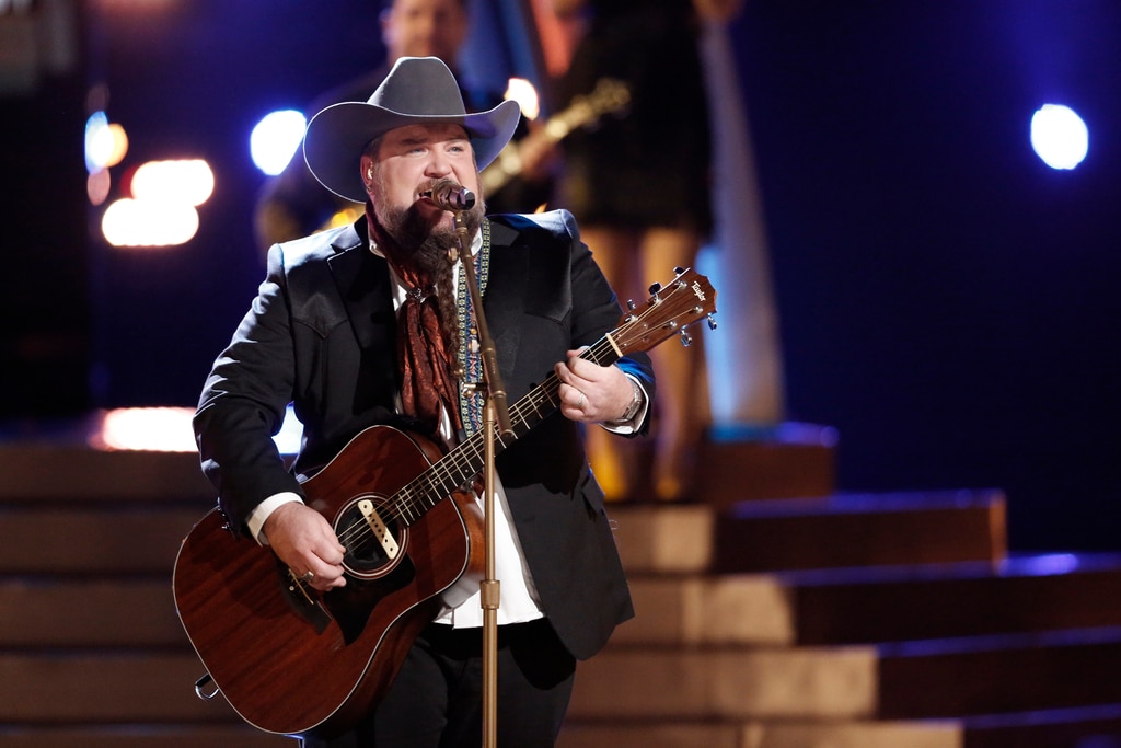
[[[417,638],[373,714],[353,731],[304,748],[479,748],[482,629],[433,624]],[[576,661],[541,619],[498,631],[499,748],[553,748]]]

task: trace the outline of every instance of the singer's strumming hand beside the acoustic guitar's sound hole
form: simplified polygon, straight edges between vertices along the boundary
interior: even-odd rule
[[[263,530],[274,553],[296,576],[314,574],[308,584],[316,590],[346,584],[342,565],[346,548],[315,509],[298,501],[281,505],[265,520]]]

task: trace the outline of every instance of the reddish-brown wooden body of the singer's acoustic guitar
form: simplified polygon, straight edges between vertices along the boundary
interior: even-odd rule
[[[304,490],[344,538],[360,500],[383,507],[438,455],[419,437],[373,426]],[[396,556],[343,539],[346,587],[326,594],[294,579],[269,548],[234,536],[217,509],[184,539],[173,580],[179,619],[247,722],[293,736],[345,731],[385,694],[438,612],[441,593],[464,575],[482,576],[482,519],[472,496],[453,493],[407,527],[387,524],[400,545]]]

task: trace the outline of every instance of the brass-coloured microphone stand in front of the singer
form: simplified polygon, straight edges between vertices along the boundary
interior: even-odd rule
[[[494,502],[498,481],[494,471],[494,425],[498,433],[513,435],[510,410],[506,400],[506,385],[498,370],[498,353],[483,314],[483,299],[475,277],[475,264],[471,257],[471,241],[463,223],[463,212],[454,212],[455,236],[460,244],[460,267],[467,277],[471,293],[471,308],[479,329],[479,350],[483,360],[483,387],[487,408],[483,415],[483,519],[485,521],[487,570],[479,583],[480,602],[483,609],[483,748],[494,748],[498,742],[498,608],[500,582],[494,578]]]

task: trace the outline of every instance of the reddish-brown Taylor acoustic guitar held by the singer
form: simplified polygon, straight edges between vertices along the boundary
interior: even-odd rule
[[[651,293],[581,355],[606,366],[675,334],[687,342],[686,327],[706,316],[715,326],[716,292],[704,276],[678,269]],[[515,433],[495,433],[495,451],[555,413],[558,388],[549,373],[511,405]],[[235,536],[219,509],[205,515],[183,541],[172,582],[207,671],[196,693],[222,693],[247,722],[281,735],[331,736],[368,714],[445,592],[479,589],[484,528],[469,489],[484,441],[476,433],[441,454],[416,434],[371,426],[305,481],[308,506],[346,548],[346,585],[327,593]]]

